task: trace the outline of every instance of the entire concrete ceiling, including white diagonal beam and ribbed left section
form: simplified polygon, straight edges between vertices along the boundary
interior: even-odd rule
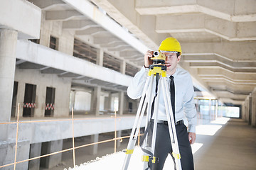
[[[161,40],[177,38],[180,67],[223,103],[242,104],[255,89],[255,0],[29,1],[46,21],[62,22],[78,40],[137,68],[147,48],[157,50]]]

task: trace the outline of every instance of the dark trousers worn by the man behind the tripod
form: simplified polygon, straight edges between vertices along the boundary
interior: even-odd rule
[[[154,123],[151,123],[149,130],[149,138],[152,134],[153,126]],[[182,170],[193,170],[193,154],[191,150],[191,145],[188,141],[188,131],[186,125],[184,125],[183,123],[176,125],[176,133],[178,138],[178,148],[181,154]],[[171,154],[171,152],[172,148],[168,125],[164,123],[157,123],[154,156],[159,158],[159,162],[153,164],[153,170],[163,169],[166,157],[168,156],[168,154]],[[174,157],[172,158],[174,159]]]

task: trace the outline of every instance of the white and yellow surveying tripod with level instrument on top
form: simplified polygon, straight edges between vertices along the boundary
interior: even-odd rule
[[[156,128],[157,128],[157,122],[158,122],[158,109],[159,109],[159,97],[157,94],[163,89],[164,94],[164,105],[166,109],[166,116],[168,121],[168,127],[169,127],[169,134],[171,138],[171,147],[172,147],[172,155],[175,158],[176,162],[176,169],[181,170],[181,155],[179,153],[178,149],[178,140],[176,136],[176,128],[174,123],[174,115],[171,109],[171,98],[169,94],[169,89],[167,86],[167,80],[166,80],[166,66],[164,65],[165,62],[165,56],[161,52],[154,52],[154,58],[151,60],[154,61],[153,64],[149,66],[149,74],[146,79],[146,83],[144,85],[144,89],[142,92],[142,98],[139,102],[139,108],[137,110],[137,115],[134,121],[134,126],[132,128],[131,136],[129,137],[129,142],[127,149],[125,149],[126,157],[124,159],[124,165],[122,167],[123,170],[127,170],[129,166],[129,160],[132,157],[132,153],[134,151],[134,145],[137,140],[138,134],[139,134],[139,128],[142,123],[142,118],[144,116],[144,111],[147,106],[146,111],[146,126],[145,126],[145,132],[144,132],[144,141],[143,145],[141,144],[141,148],[144,152],[144,155],[142,156],[142,161],[144,161],[144,169],[152,169],[152,164],[156,163],[158,161],[158,158],[154,157],[154,150],[155,150],[155,143],[156,143]],[[154,96],[153,103],[151,103],[152,99],[152,90],[153,90],[153,84],[154,80],[156,82],[156,95]],[[156,99],[156,102],[155,102]],[[153,106],[153,107],[152,107]],[[151,114],[150,114],[151,109]],[[153,113],[153,114],[152,114]],[[149,129],[150,123],[153,123],[152,116],[154,116],[154,126],[153,126],[153,133],[152,137],[147,135],[147,131]],[[151,141],[148,141],[151,140]]]

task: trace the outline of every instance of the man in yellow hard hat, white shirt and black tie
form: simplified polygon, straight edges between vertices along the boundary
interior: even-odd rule
[[[181,45],[178,40],[175,38],[166,38],[166,40],[161,42],[159,51],[166,55],[166,74],[167,77],[170,77],[170,79],[168,79],[168,84],[170,85],[170,91],[173,92],[173,94],[171,94],[171,92],[169,95],[171,95],[171,97],[173,96],[173,98],[171,98],[171,105],[173,107],[173,111],[175,112],[174,119],[176,120],[178,147],[181,154],[181,167],[183,170],[193,170],[193,154],[191,151],[191,144],[193,144],[193,142],[196,140],[196,107],[193,101],[194,91],[191,75],[186,72],[186,70],[177,67],[178,62],[181,60]],[[149,65],[152,64],[152,60],[150,60],[152,54],[153,52],[147,51],[144,55],[144,67],[137,72],[132,79],[132,83],[127,89],[127,94],[130,98],[136,99],[142,96],[144,84],[146,82],[146,78],[148,77],[147,74],[149,72]],[[154,91],[152,91],[152,93],[155,94]],[[156,130],[154,156],[159,158],[159,162],[153,164],[154,170],[163,169],[166,157],[172,152],[163,90],[160,91],[158,97],[159,121],[157,123]],[[152,103],[153,100],[149,102]],[[154,115],[152,119],[154,119]],[[186,125],[184,125],[184,123],[186,123],[186,125],[188,124],[188,128]],[[151,123],[151,125],[153,125],[153,123]]]

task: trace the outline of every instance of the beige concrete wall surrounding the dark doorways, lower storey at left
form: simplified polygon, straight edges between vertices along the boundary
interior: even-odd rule
[[[55,88],[53,117],[68,116],[71,79],[60,78],[55,74],[41,74],[41,72],[33,69],[16,68],[14,80],[18,82],[16,106],[20,103],[21,107],[23,107],[25,84],[34,84],[36,85],[36,108],[34,117],[44,117],[46,108],[46,88],[53,87]],[[22,109],[20,111],[22,111]]]

